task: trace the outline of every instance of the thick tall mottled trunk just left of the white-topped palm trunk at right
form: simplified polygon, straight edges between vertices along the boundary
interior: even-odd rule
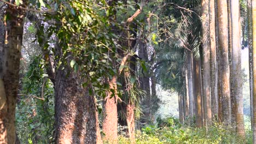
[[[228,56],[228,8],[226,1],[218,0],[218,28],[219,28],[219,59],[218,59],[218,93],[219,118],[221,122],[230,124],[230,80]],[[222,111],[222,113],[220,113]]]

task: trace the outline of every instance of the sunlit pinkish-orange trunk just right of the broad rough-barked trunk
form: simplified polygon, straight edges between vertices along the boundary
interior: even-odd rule
[[[103,101],[103,120],[102,131],[105,134],[104,140],[111,143],[118,141],[118,113],[117,113],[117,77],[113,76],[112,80],[108,81],[109,91],[107,98]],[[114,93],[113,93],[114,92]]]

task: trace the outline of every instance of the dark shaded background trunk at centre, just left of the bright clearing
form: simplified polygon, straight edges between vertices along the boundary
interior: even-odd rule
[[[148,62],[148,50],[147,46],[143,43],[143,41],[139,41],[139,50],[138,56],[142,58],[144,62]],[[141,123],[149,124],[151,120],[151,105],[150,102],[152,100],[150,95],[150,83],[149,83],[149,68],[144,70],[140,68],[141,75],[139,76],[139,87],[146,92],[146,97],[142,101],[143,105],[143,114],[144,116],[141,118]]]

